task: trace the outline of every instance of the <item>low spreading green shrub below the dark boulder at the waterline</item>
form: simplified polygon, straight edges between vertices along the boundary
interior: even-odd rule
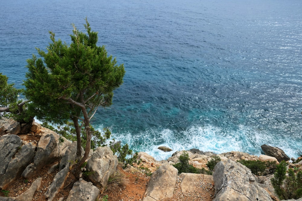
[[[267,174],[273,174],[276,169],[276,162],[270,162],[270,161],[246,161],[246,160],[240,160],[238,161],[242,165],[245,165],[247,168],[249,168],[253,174],[257,176],[261,175],[267,175]]]

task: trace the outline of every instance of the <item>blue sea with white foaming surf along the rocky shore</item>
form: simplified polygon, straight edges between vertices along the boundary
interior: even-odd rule
[[[0,0],[0,72],[22,87],[48,31],[70,43],[70,24],[84,30],[87,17],[126,70],[96,128],[158,160],[191,148],[260,155],[262,144],[297,157],[301,11],[299,0]]]

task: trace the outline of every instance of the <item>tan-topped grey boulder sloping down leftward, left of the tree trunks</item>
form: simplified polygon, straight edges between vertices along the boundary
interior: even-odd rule
[[[34,163],[28,165],[23,171],[22,177],[24,178],[34,176],[44,165],[57,160],[59,155],[63,155],[71,144],[65,137],[61,137],[63,138],[63,143],[59,144],[59,135],[47,128],[41,128],[37,133],[41,133],[41,138],[37,145]]]

